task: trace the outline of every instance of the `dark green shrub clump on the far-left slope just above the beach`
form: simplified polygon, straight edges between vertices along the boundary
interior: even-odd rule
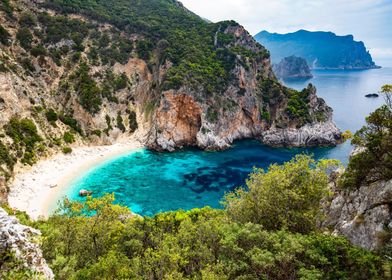
[[[22,163],[30,164],[36,162],[36,144],[42,141],[34,122],[29,119],[18,119],[12,117],[4,126],[6,134],[12,138],[17,155]],[[23,150],[24,148],[24,150]]]

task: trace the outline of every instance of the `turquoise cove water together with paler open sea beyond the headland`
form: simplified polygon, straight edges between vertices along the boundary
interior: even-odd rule
[[[311,80],[284,81],[301,89],[310,82],[334,109],[334,119],[342,129],[356,131],[365,117],[382,103],[380,98],[365,98],[383,84],[392,83],[392,68],[366,71],[316,70]],[[75,200],[80,189],[93,196],[115,193],[116,202],[141,215],[176,209],[211,206],[219,208],[225,192],[242,186],[254,167],[290,160],[297,153],[316,158],[337,158],[347,163],[349,143],[335,148],[277,149],[257,141],[239,141],[223,152],[187,149],[174,153],[138,150],[96,166],[77,178],[66,190]]]

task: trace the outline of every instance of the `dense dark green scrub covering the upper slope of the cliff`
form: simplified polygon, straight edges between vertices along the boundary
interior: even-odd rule
[[[62,13],[78,11],[91,19],[109,22],[128,34],[140,34],[144,39],[137,41],[138,57],[153,65],[165,60],[173,62],[163,88],[179,88],[186,84],[202,85],[206,93],[223,92],[232,80],[230,71],[235,66],[236,49],[229,49],[233,36],[224,35],[225,29],[237,26],[235,22],[207,23],[203,19],[179,7],[175,1],[80,1],[49,0],[46,7]],[[214,36],[218,33],[218,45]],[[105,37],[104,37],[105,36]],[[102,54],[110,40],[107,35],[99,39],[99,45],[91,51],[91,57]],[[125,42],[126,52],[130,44]],[[125,52],[125,53],[126,53]],[[260,46],[259,53],[245,53],[249,58],[266,57],[269,54]]]

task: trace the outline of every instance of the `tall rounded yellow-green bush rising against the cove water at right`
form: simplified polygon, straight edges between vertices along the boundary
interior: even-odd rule
[[[241,223],[261,224],[267,230],[288,229],[308,233],[322,219],[321,199],[328,195],[326,169],[336,162],[316,163],[298,155],[281,166],[274,164],[265,173],[256,169],[240,188],[226,196],[230,217]]]

